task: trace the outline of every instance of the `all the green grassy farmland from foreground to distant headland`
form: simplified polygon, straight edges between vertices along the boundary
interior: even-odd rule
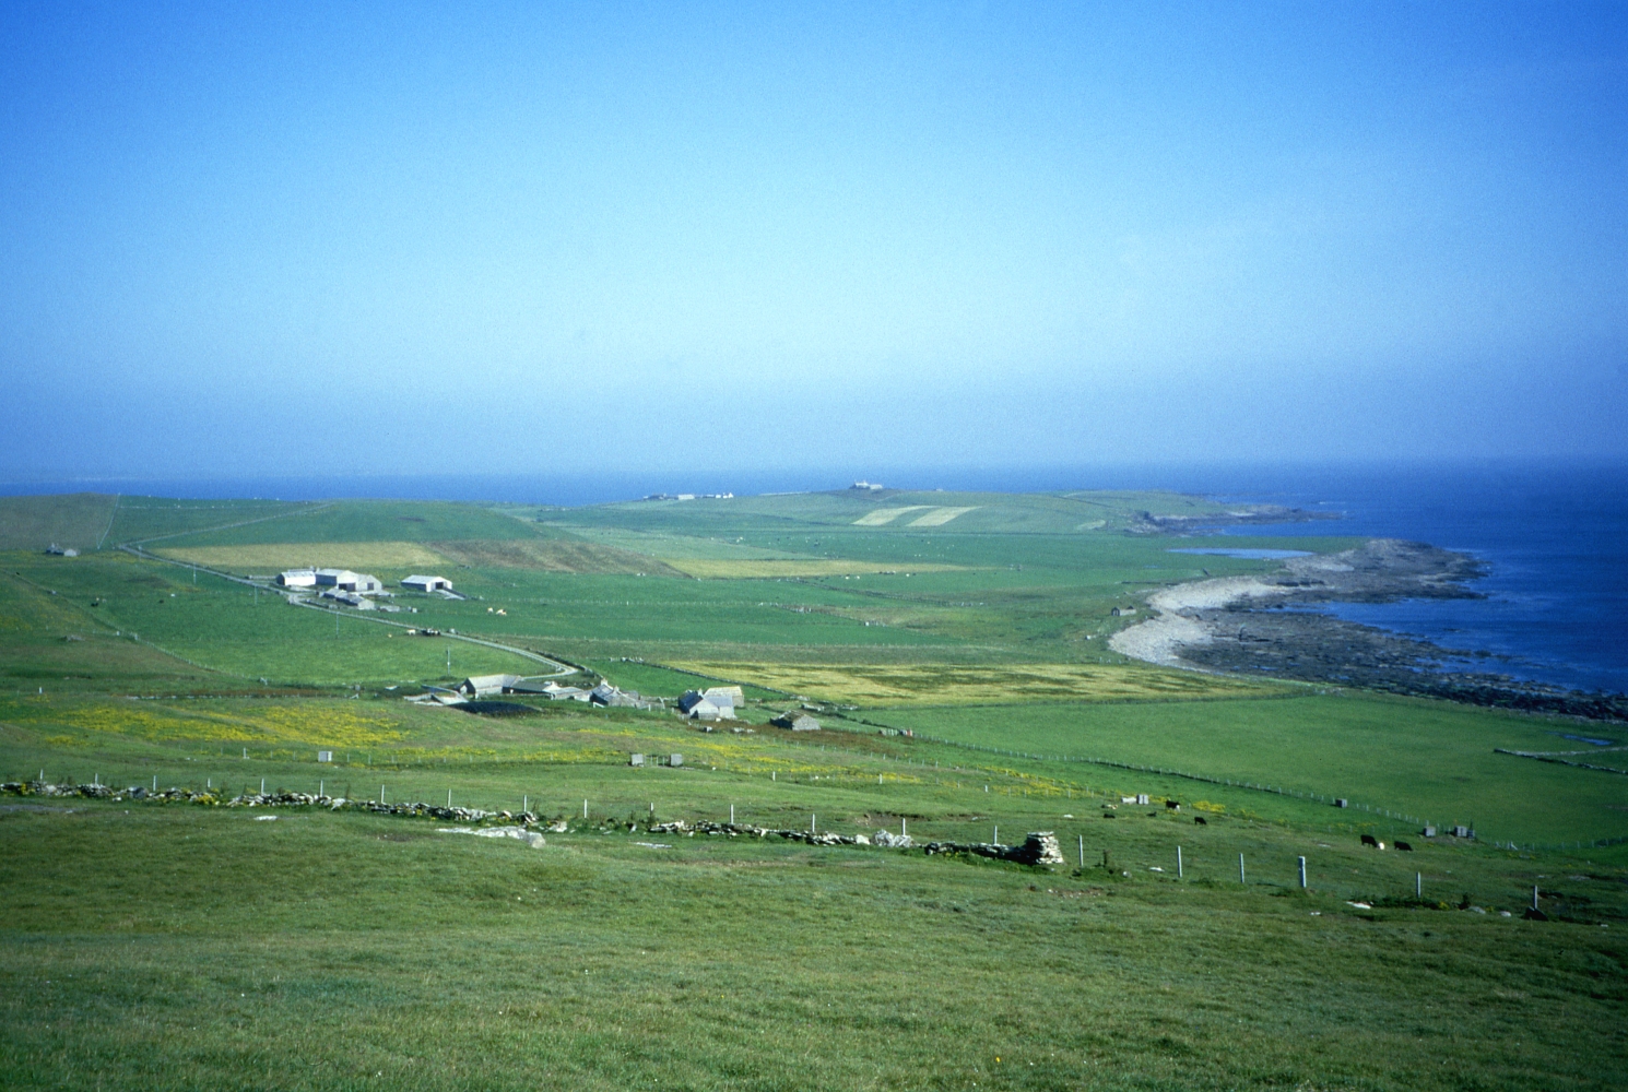
[[[869,514],[891,508],[908,511]],[[910,526],[949,509],[964,511]],[[1628,848],[1491,845],[1628,836],[1628,778],[1493,752],[1560,749],[1573,721],[1258,684],[1201,700],[1014,685],[980,705],[926,688],[822,708],[821,732],[767,726],[793,705],[770,688],[786,666],[912,667],[946,692],[1070,664],[1158,677],[1107,649],[1112,607],[1270,566],[1171,553],[1203,539],[1140,516],[1203,509],[847,490],[586,509],[0,501],[0,778],[264,780],[570,819],[532,850],[428,819],[0,797],[3,1084],[1628,1084]],[[49,557],[50,542],[85,553]],[[296,607],[241,583],[269,568],[117,548],[135,542],[182,560],[361,544],[443,558],[469,597]],[[759,664],[734,679],[752,731],[659,708],[527,700],[527,716],[484,718],[402,701],[417,684],[547,670],[453,630],[583,669],[562,682],[664,698],[705,685],[674,664]],[[632,768],[635,752],[684,767]],[[1122,802],[1136,793],[1153,804]],[[731,806],[773,828],[908,823],[918,843],[1052,830],[1068,864],[646,828]],[[1402,815],[1478,838],[1424,840]],[[1364,833],[1415,848],[1364,848]],[[1521,916],[1534,887],[1548,921]]]

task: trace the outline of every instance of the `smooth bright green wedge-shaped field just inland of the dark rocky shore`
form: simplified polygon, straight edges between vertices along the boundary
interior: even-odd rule
[[[1496,753],[1555,750],[1568,718],[1363,692],[1276,700],[877,710],[868,719],[1047,755],[1341,796],[1481,838],[1628,836],[1628,780]],[[1190,793],[1208,791],[1193,784]]]

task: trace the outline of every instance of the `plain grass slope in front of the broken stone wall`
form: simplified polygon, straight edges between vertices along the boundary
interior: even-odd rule
[[[1597,926],[591,830],[534,851],[358,815],[7,812],[0,846],[8,1087],[1628,1077]]]

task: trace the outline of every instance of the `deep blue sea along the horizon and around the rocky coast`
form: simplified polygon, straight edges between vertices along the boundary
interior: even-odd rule
[[[1424,638],[1444,649],[1491,656],[1464,661],[1467,669],[1569,690],[1628,692],[1628,465],[905,465],[599,475],[77,478],[0,482],[0,493],[91,490],[176,498],[379,496],[576,506],[651,493],[829,490],[861,477],[902,488],[1166,488],[1229,503],[1273,503],[1337,514],[1338,519],[1327,522],[1239,526],[1218,534],[1255,540],[1377,535],[1464,550],[1486,568],[1486,576],[1473,584],[1480,599],[1332,604],[1328,610],[1351,622]],[[1263,550],[1260,542],[1239,544],[1239,548]]]

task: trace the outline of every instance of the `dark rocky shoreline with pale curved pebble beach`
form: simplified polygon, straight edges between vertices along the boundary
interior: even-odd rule
[[[1473,599],[1485,574],[1465,553],[1371,539],[1341,553],[1293,558],[1263,576],[1193,581],[1153,592],[1154,617],[1110,638],[1115,651],[1169,667],[1258,674],[1385,690],[1470,705],[1628,721],[1628,695],[1581,693],[1451,661],[1444,649],[1315,610],[1328,602]]]

